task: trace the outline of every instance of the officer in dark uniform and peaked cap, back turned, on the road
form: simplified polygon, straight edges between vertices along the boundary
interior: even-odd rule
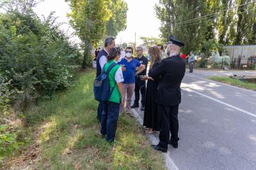
[[[164,153],[168,150],[168,143],[172,144],[174,148],[178,148],[180,84],[186,70],[185,62],[179,54],[184,43],[173,35],[169,37],[169,40],[166,50],[168,58],[163,59],[159,67],[152,71],[152,78],[161,77],[156,97],[158,112],[161,114],[161,130],[159,143],[153,147]]]

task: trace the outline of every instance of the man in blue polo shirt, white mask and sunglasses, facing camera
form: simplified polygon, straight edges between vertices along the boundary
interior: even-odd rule
[[[133,49],[132,47],[127,47],[125,50],[125,58],[123,58],[118,64],[125,67],[125,71],[123,72],[124,82],[123,82],[123,91],[124,98],[126,97],[126,107],[125,111],[129,114],[131,113],[131,101],[132,95],[135,89],[135,77],[145,70],[145,66],[141,65],[141,63],[132,58]],[[136,68],[138,67],[138,71],[136,72]],[[119,113],[122,114],[124,112],[124,104],[120,104]]]

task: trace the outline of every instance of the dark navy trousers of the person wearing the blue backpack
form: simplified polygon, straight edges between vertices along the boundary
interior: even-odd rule
[[[104,112],[101,115],[100,133],[106,135],[106,141],[111,142],[115,139],[117,120],[120,104],[107,102],[103,104]]]

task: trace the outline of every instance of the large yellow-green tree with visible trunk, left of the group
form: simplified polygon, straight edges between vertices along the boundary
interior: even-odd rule
[[[106,34],[106,24],[111,17],[110,0],[66,0],[70,3],[70,24],[84,43],[84,59],[82,68],[92,56],[92,47],[97,47]]]

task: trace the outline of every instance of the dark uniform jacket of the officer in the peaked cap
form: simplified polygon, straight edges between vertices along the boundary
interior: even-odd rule
[[[157,88],[157,104],[168,106],[180,104],[180,84],[185,70],[185,62],[177,55],[163,59],[159,67],[151,72],[153,79],[161,77]]]

